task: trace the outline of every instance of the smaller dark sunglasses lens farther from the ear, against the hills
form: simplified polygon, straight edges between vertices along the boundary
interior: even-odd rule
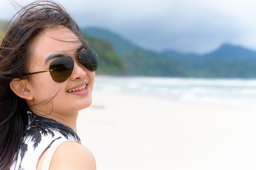
[[[96,71],[98,67],[98,57],[93,49],[81,51],[78,55],[80,62],[90,71]]]

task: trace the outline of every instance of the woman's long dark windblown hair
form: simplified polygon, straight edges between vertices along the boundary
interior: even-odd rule
[[[9,170],[16,160],[23,129],[27,125],[29,106],[9,84],[15,78],[26,78],[23,73],[29,68],[33,38],[46,28],[62,25],[85,43],[74,19],[64,7],[50,0],[39,0],[21,7],[9,24],[0,44],[0,170]]]

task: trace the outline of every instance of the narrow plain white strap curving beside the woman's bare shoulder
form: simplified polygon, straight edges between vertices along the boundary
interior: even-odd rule
[[[55,153],[56,149],[60,146],[60,144],[62,144],[65,141],[72,141],[72,140],[68,140],[66,138],[60,138],[57,141],[53,142],[50,148],[48,148],[47,153],[43,160],[42,170],[49,170],[53,154]]]

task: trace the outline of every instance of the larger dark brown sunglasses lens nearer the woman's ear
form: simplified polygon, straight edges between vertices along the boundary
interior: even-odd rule
[[[62,83],[71,75],[74,60],[69,56],[60,57],[52,61],[49,68],[52,79],[57,83]]]

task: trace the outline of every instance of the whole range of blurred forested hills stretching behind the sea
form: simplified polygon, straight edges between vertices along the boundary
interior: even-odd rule
[[[3,24],[0,22],[0,36],[4,34]],[[242,46],[223,44],[201,55],[173,50],[157,52],[145,50],[105,29],[82,28],[82,32],[98,53],[97,74],[256,78],[256,51]]]

